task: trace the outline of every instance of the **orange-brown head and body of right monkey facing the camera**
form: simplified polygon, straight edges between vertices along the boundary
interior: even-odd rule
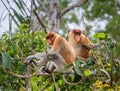
[[[80,29],[70,31],[68,41],[75,49],[76,58],[86,60],[91,56],[91,49],[93,49],[94,45]]]

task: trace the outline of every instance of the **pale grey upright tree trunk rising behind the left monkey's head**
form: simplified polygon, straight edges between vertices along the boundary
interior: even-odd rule
[[[47,31],[58,32],[59,30],[59,20],[57,19],[58,13],[59,13],[59,0],[49,0]]]

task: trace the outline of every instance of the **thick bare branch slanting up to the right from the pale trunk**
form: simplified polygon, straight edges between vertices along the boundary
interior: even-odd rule
[[[78,2],[76,2],[75,4],[66,7],[64,10],[62,10],[61,12],[59,12],[59,14],[57,14],[57,18],[60,19],[65,13],[67,13],[68,11],[70,11],[71,9],[74,9],[76,7],[79,7],[83,4],[85,4],[88,0],[79,0]]]

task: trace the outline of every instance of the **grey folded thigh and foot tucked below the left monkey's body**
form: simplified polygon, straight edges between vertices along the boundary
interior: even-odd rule
[[[63,72],[66,62],[60,54],[56,52],[49,52],[47,54],[47,59],[49,61],[47,61],[45,66],[42,66],[40,73],[50,75],[51,73],[55,71],[60,72],[60,73]],[[41,63],[37,63],[37,65],[39,64]]]

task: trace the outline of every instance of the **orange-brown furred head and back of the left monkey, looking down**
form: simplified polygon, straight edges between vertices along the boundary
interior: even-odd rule
[[[46,35],[46,39],[47,41],[48,40],[52,41],[51,51],[58,52],[67,63],[75,62],[74,48],[63,37],[61,37],[57,33],[49,32]]]

